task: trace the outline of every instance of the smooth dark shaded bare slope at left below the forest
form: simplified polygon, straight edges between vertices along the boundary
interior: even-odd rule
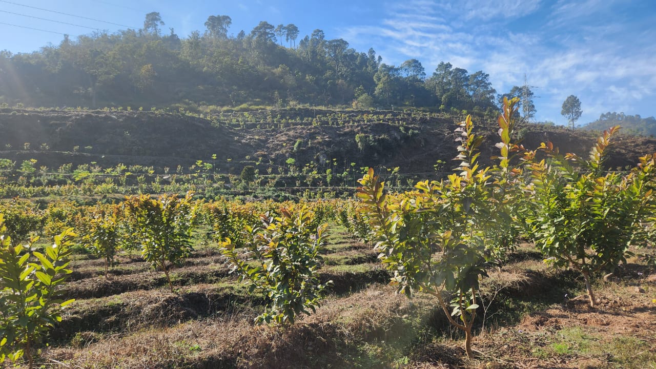
[[[245,156],[253,148],[228,127],[207,119],[155,112],[0,110],[0,147],[11,158],[36,158],[39,165],[98,162],[175,167],[217,154]],[[30,150],[23,150],[24,143]],[[40,150],[41,144],[49,148]],[[73,148],[77,146],[77,152]],[[88,148],[91,146],[91,148]]]

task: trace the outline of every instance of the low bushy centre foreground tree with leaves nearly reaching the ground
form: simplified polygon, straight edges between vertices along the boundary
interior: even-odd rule
[[[318,278],[325,225],[313,227],[314,216],[306,206],[294,212],[283,208],[279,217],[262,215],[261,227],[247,226],[250,240],[245,250],[235,248],[230,238],[220,242],[239,281],[267,300],[257,322],[291,324],[297,315],[314,313],[332,283],[322,284]]]

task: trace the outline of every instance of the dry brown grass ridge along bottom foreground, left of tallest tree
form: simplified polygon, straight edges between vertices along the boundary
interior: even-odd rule
[[[254,326],[255,315],[244,312],[221,313],[123,335],[79,335],[79,347],[46,349],[41,361],[79,368],[357,368],[363,361],[351,354],[363,345],[407,351],[430,309],[424,296],[410,301],[389,286],[371,286],[331,297],[316,315],[287,328]]]

